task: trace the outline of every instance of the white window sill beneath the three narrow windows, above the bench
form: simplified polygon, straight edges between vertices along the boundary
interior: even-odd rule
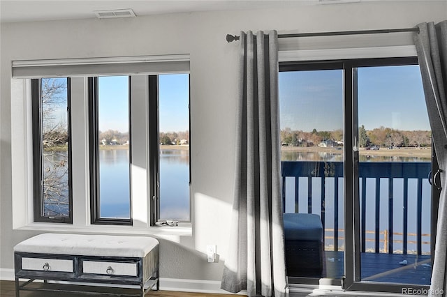
[[[132,227],[117,225],[88,225],[85,227],[73,226],[72,224],[56,224],[33,222],[15,230],[45,231],[45,232],[68,232],[81,234],[107,234],[107,235],[139,235],[139,236],[192,236],[191,223],[182,223],[181,226],[167,227]]]

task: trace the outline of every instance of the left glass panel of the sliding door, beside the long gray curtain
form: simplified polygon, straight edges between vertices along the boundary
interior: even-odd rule
[[[286,229],[321,222],[322,236],[289,236],[291,282],[341,280],[344,270],[343,69],[340,63],[282,66],[281,162]],[[312,215],[309,215],[312,214]],[[313,226],[312,226],[313,228]],[[318,228],[312,232],[318,234]],[[298,252],[299,251],[299,252]],[[306,259],[302,261],[301,259]],[[338,281],[338,283],[340,283]]]

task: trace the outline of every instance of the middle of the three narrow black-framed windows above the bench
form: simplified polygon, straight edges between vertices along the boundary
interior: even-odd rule
[[[129,77],[90,84],[91,222],[131,224]]]

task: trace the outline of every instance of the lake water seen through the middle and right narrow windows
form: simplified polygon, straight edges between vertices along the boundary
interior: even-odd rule
[[[101,217],[130,217],[129,151],[101,150]],[[160,150],[160,219],[189,220],[189,153]]]

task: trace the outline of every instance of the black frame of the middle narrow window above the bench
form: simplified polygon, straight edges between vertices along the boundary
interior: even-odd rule
[[[98,77],[88,78],[89,97],[89,169],[90,169],[90,220],[91,224],[133,225],[132,219],[132,189],[129,186],[129,219],[128,218],[101,218],[99,195],[99,135],[98,135]],[[129,76],[129,185],[131,185],[132,163],[132,136],[131,136],[131,77]]]

